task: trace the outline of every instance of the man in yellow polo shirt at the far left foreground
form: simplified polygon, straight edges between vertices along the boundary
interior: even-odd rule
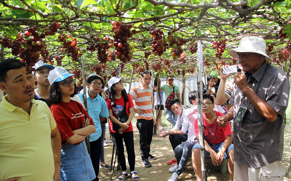
[[[61,137],[34,79],[17,59],[0,63],[0,180],[59,181]],[[11,179],[12,178],[12,179]]]

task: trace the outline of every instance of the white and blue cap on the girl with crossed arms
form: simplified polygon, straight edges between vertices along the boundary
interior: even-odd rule
[[[72,75],[75,74],[69,74],[69,72],[63,67],[56,67],[54,70],[49,71],[49,76],[47,79],[49,80],[49,84],[52,85],[54,82],[60,82]]]

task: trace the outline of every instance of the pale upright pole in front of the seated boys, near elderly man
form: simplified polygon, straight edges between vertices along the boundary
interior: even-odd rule
[[[202,100],[202,44],[198,41],[198,51],[197,51],[197,94],[198,98]],[[203,116],[202,116],[202,102],[198,100],[198,131],[199,131],[199,144],[200,144],[200,155],[201,155],[201,171],[202,171],[202,179],[203,181],[207,181],[206,177],[206,165],[205,165],[205,145],[204,145],[204,132],[203,132]]]

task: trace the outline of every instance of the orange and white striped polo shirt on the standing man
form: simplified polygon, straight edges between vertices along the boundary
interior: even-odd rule
[[[146,89],[143,88],[142,84],[139,84],[132,88],[129,95],[135,101],[136,109],[145,110],[144,114],[135,113],[136,119],[151,120],[154,118],[152,114],[152,88],[150,86]]]

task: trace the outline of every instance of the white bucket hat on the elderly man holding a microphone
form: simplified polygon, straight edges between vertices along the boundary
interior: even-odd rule
[[[238,58],[237,52],[252,52],[264,55],[266,59],[271,59],[266,54],[266,43],[263,38],[256,36],[247,36],[240,40],[237,48],[229,49],[227,52],[230,56]]]

